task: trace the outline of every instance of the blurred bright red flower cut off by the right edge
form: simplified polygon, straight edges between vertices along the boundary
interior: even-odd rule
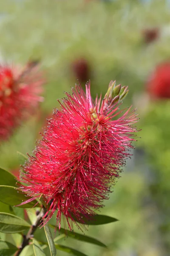
[[[147,81],[151,98],[170,99],[170,62],[159,64]]]

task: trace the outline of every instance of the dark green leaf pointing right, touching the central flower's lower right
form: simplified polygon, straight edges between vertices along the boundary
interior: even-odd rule
[[[77,220],[77,218],[74,218],[74,219],[75,219],[75,221],[81,223],[79,220]],[[115,222],[118,220],[116,218],[113,218],[113,217],[110,217],[107,215],[95,214],[95,215],[89,216],[88,219],[82,218],[82,221],[84,222],[84,224],[87,224],[87,225],[102,225],[102,224],[108,224],[111,222]]]

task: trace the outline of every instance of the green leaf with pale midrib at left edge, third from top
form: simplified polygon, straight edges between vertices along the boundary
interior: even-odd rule
[[[0,212],[0,232],[3,233],[19,233],[28,229],[28,222],[15,215]]]

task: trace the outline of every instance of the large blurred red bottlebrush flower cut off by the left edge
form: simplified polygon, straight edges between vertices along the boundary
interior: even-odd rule
[[[6,140],[42,101],[42,74],[35,62],[0,65],[0,140]]]

